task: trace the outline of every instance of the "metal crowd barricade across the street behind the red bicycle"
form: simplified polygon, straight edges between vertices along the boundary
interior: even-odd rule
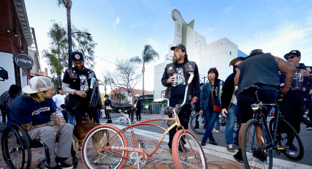
[[[141,108],[141,120],[163,118],[166,106],[166,103],[142,104],[143,108]],[[118,120],[119,117],[123,116],[119,112],[113,111],[110,106],[102,106],[102,109],[100,110],[100,120],[107,120],[107,117],[105,116],[105,110],[109,112],[111,120]],[[134,120],[136,120],[135,111]],[[162,123],[164,123],[164,121]]]

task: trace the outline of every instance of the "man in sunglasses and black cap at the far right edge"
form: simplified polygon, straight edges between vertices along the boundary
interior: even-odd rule
[[[312,71],[311,67],[305,66],[304,63],[299,63],[301,60],[299,50],[290,51],[284,55],[284,58],[296,68],[296,73],[289,91],[282,97],[283,101],[280,103],[279,108],[281,115],[299,133],[306,105],[310,103],[309,92],[312,83]],[[285,73],[280,73],[280,87],[283,87],[285,77]],[[291,148],[292,145],[290,144],[289,146]]]

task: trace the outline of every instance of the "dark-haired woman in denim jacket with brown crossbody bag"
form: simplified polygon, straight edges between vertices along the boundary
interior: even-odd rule
[[[222,93],[222,84],[224,81],[218,79],[219,73],[216,68],[210,68],[208,71],[208,83],[205,83],[202,86],[202,91],[200,94],[200,112],[199,114],[203,114],[206,119],[206,131],[204,136],[202,137],[202,142],[200,143],[202,146],[206,145],[206,141],[209,138],[209,143],[213,145],[218,145],[216,140],[212,135],[212,127],[215,121],[217,120],[220,112],[213,111],[213,105],[221,107],[221,93]],[[213,95],[213,103],[212,103],[212,95]]]

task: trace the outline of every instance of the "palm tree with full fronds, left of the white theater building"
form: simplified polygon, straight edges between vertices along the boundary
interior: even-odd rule
[[[141,63],[142,67],[142,75],[143,75],[143,101],[144,101],[144,72],[145,72],[145,63],[151,63],[155,61],[155,58],[159,59],[159,54],[156,52],[151,45],[145,45],[144,50],[142,51],[141,58],[139,56],[134,56],[130,59],[130,62],[133,63]]]

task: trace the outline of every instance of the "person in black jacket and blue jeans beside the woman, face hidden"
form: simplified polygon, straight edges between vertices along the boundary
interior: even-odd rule
[[[221,95],[222,115],[227,118],[227,124],[225,125],[225,142],[227,144],[227,151],[229,152],[235,152],[233,148],[234,141],[238,144],[238,132],[236,132],[236,136],[233,140],[235,117],[237,118],[237,124],[239,124],[240,121],[236,99],[237,86],[234,84],[234,77],[238,70],[237,66],[244,59],[244,57],[237,57],[230,62],[230,65],[233,66],[233,73],[225,80]],[[239,131],[239,129],[237,130]]]

